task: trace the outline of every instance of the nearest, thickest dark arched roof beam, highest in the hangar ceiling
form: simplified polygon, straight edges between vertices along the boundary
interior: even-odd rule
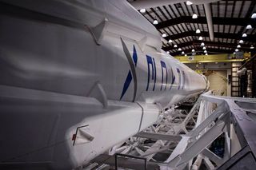
[[[163,29],[169,26],[174,26],[181,23],[198,23],[198,24],[207,24],[206,17],[198,17],[197,19],[192,19],[191,16],[182,16],[178,18],[173,18],[166,20],[164,22],[159,22],[155,27]],[[248,23],[251,23],[251,26],[255,27],[256,23],[252,18],[218,18],[213,17],[214,25],[230,25],[230,26],[247,26]]]

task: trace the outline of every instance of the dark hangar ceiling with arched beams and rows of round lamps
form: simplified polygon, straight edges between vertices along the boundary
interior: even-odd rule
[[[139,1],[146,3],[146,0],[129,2],[133,5],[133,3]],[[168,53],[171,55],[177,56],[190,55],[193,49],[194,53],[197,54],[205,53],[205,50],[209,54],[234,53],[235,50],[237,52],[255,51],[256,17],[252,18],[252,15],[256,12],[255,0],[215,0],[210,2],[208,6],[210,5],[210,18],[213,23],[211,25],[214,32],[213,38],[210,38],[205,4],[193,3],[187,5],[186,1],[174,2],[170,1],[169,5],[164,6],[147,6],[148,8],[144,11],[137,7],[138,11],[149,22],[153,24],[154,20],[158,21],[158,24],[154,24],[154,26],[168,42],[162,45],[162,49],[166,52],[169,51]],[[134,7],[136,8],[136,6]],[[197,15],[197,18],[192,18],[194,14]],[[248,25],[252,28],[248,29]],[[200,30],[199,34],[196,33],[198,29]],[[202,42],[205,44],[205,48],[203,48]]]

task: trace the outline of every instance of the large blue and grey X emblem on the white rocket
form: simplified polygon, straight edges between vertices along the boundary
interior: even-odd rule
[[[137,66],[138,56],[137,56],[135,46],[134,46],[133,57],[131,57],[131,55],[129,53],[129,50],[127,49],[127,46],[126,46],[125,42],[123,42],[122,38],[121,38],[121,42],[122,42],[123,52],[126,54],[127,60],[129,62],[129,65],[130,65],[130,70],[127,74],[126,81],[123,85],[122,95],[120,97],[120,100],[122,99],[122,97],[125,95],[127,89],[129,88],[130,82],[132,80],[134,80],[134,97],[133,97],[133,102],[134,102],[135,97],[136,97],[136,93],[137,93],[137,75],[136,75],[135,67]]]

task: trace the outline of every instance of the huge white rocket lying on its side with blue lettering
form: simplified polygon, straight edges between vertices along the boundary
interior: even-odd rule
[[[71,169],[202,93],[125,0],[0,0],[0,169]]]

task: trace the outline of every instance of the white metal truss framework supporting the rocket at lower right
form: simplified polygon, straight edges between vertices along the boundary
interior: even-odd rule
[[[174,108],[163,112],[155,125],[130,137],[125,144],[114,146],[109,155],[96,158],[94,169],[114,167],[116,153],[147,160],[146,165],[142,160],[118,160],[121,169],[142,169],[142,165],[147,169],[199,169],[202,164],[207,169],[225,169],[232,166],[230,161],[237,161],[235,157],[248,152],[255,156],[254,115],[254,99],[205,93],[189,113]],[[223,156],[210,149],[219,136],[225,139]]]

